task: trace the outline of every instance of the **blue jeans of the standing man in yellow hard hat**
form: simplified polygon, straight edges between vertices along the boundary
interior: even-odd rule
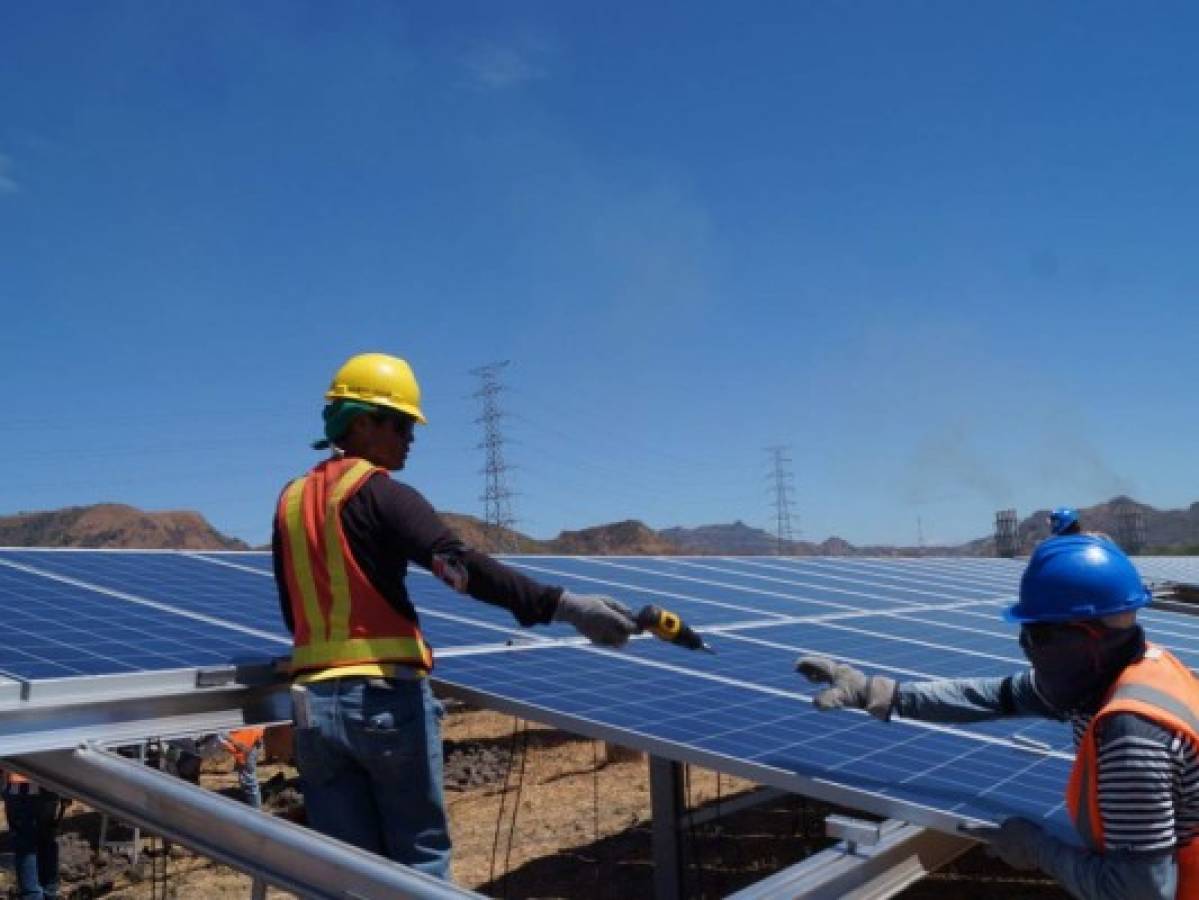
[[[441,718],[428,679],[333,678],[308,685],[296,729],[308,823],[439,878],[450,877]]]

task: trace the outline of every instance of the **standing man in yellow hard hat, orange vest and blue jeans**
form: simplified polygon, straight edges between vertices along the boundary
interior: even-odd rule
[[[349,360],[325,394],[329,459],[283,490],[272,549],[294,635],[295,754],[319,830],[447,877],[441,703],[433,651],[404,578],[415,562],[525,627],[568,622],[621,646],[638,630],[623,604],[542,585],[463,544],[429,502],[388,472],[404,467],[421,389],[385,354]]]

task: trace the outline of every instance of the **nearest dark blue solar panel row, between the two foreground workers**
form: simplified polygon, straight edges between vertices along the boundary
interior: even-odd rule
[[[448,659],[441,678],[613,729],[826,778],[880,797],[1070,838],[1066,760],[911,723],[818,713],[799,697],[589,650]]]

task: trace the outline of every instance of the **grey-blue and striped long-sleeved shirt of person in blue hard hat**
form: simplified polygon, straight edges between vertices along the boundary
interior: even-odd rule
[[[983,721],[1007,715],[1062,719],[1036,690],[1031,670],[1006,678],[909,682],[896,713],[926,721]],[[1076,744],[1089,715],[1071,717]],[[1199,763],[1181,735],[1133,713],[1102,723],[1098,799],[1109,850],[1093,853],[1046,835],[1037,863],[1078,898],[1161,898],[1177,887],[1175,850],[1199,825]]]

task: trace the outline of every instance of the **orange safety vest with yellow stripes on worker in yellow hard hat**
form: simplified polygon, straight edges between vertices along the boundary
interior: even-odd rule
[[[295,621],[294,671],[366,663],[433,668],[420,627],[370,584],[342,527],[342,508],[375,472],[386,470],[364,459],[329,459],[279,497],[276,524]]]

